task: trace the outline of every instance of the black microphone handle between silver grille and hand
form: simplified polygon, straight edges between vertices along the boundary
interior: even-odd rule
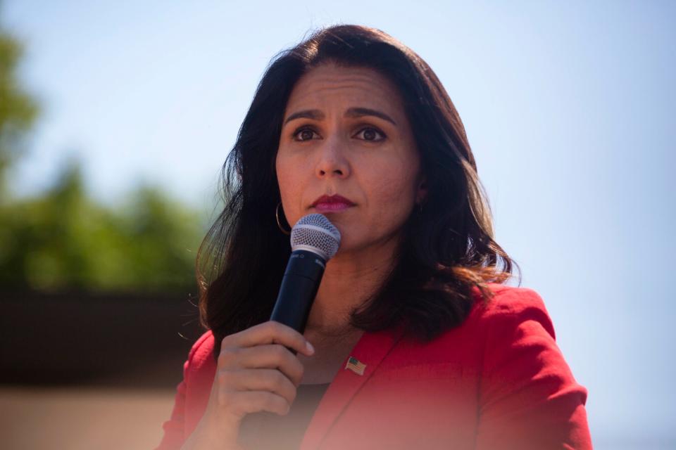
[[[270,320],[284,323],[302,334],[322,281],[324,268],[324,259],[316,253],[308,250],[292,252]],[[296,354],[295,350],[290,350]]]

